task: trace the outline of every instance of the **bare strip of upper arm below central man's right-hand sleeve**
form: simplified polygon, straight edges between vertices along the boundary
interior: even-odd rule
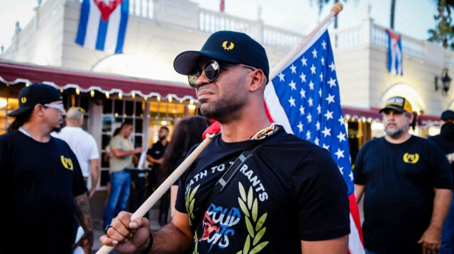
[[[348,253],[348,235],[325,241],[301,241],[301,252],[311,254]]]

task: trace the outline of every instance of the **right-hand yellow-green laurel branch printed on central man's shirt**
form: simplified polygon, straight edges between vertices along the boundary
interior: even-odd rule
[[[249,187],[248,195],[246,195],[241,183],[238,183],[238,187],[240,189],[238,203],[240,204],[241,211],[245,214],[248,237],[244,243],[243,250],[238,251],[236,254],[259,253],[269,243],[269,241],[260,243],[260,239],[265,235],[267,229],[263,225],[265,224],[268,213],[262,214],[260,219],[258,219],[258,201],[257,198],[254,198],[253,187]]]

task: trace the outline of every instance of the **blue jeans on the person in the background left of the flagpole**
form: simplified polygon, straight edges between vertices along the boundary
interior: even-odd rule
[[[114,172],[109,175],[111,182],[111,194],[104,211],[104,225],[111,221],[121,211],[126,210],[126,204],[131,190],[131,174],[126,171]]]

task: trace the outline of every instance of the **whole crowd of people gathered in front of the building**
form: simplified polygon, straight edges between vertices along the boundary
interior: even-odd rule
[[[179,54],[174,67],[188,76],[203,116],[179,120],[172,133],[160,127],[146,152],[133,146],[131,123],[116,129],[103,158],[109,187],[99,241],[118,253],[348,253],[341,172],[328,150],[268,120],[262,45],[219,31],[201,50]],[[18,99],[9,132],[0,136],[0,188],[9,193],[8,209],[0,209],[9,229],[0,253],[91,253],[89,199],[100,158],[82,129],[84,109],[65,111],[60,91],[41,83]],[[364,144],[353,161],[365,253],[453,253],[454,111],[442,112],[441,133],[428,139],[411,134],[417,116],[406,98],[389,98],[380,113],[384,137]],[[211,142],[162,197],[160,229],[151,231],[147,216],[131,220],[139,154],[154,190],[207,133]],[[150,192],[140,195],[139,203]]]

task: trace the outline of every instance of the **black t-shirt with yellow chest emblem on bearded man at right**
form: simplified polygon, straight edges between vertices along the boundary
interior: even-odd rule
[[[373,139],[360,149],[353,175],[355,184],[365,185],[365,248],[422,253],[417,241],[431,221],[433,188],[452,189],[443,151],[415,136],[402,144]]]

